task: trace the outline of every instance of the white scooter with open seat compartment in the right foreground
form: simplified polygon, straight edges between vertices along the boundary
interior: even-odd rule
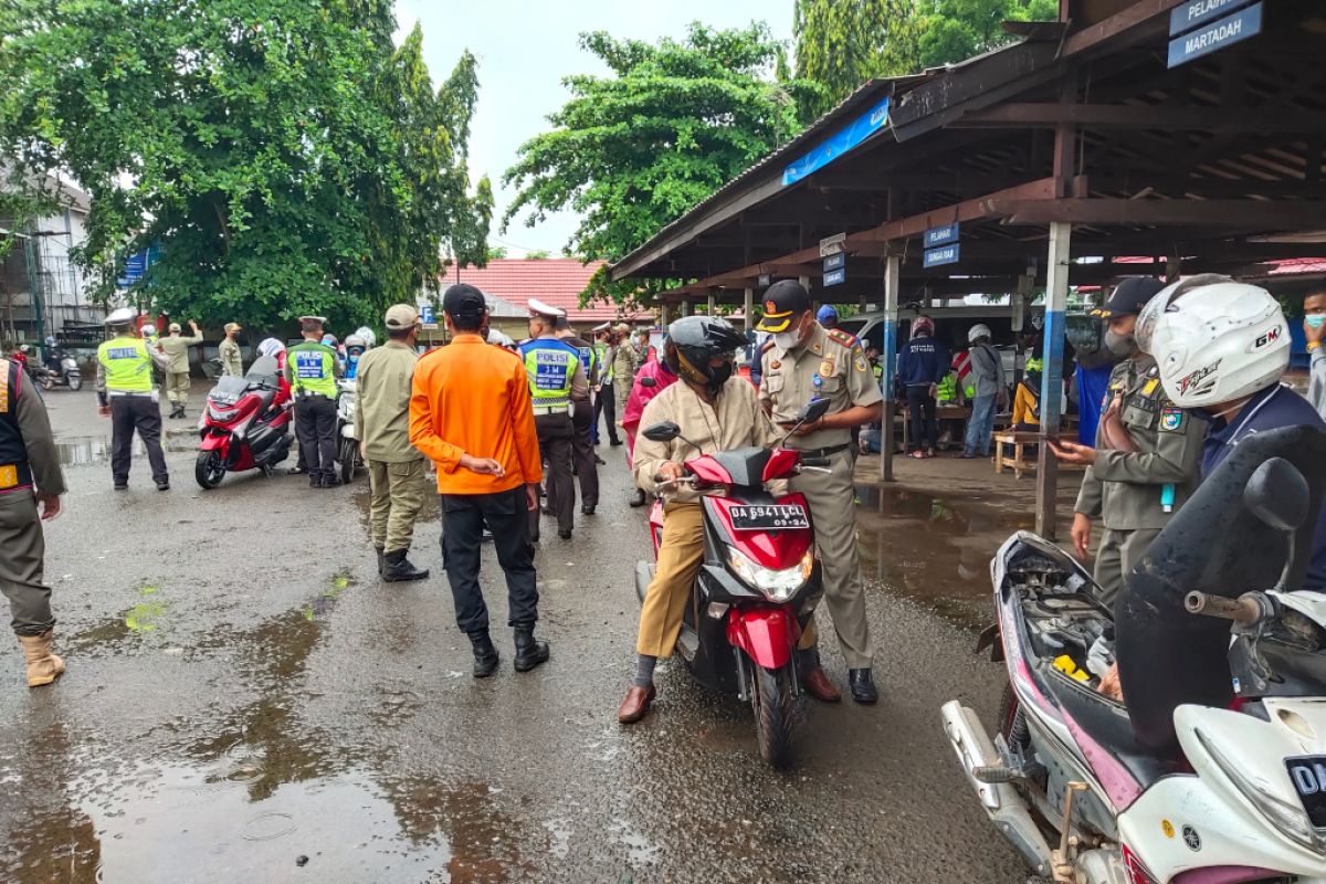
[[[1128,575],[1118,622],[1053,543],[998,550],[993,737],[957,700],[941,716],[1033,880],[1326,883],[1326,594],[1290,591],[1323,486],[1326,435],[1249,436]],[[1097,691],[1115,641],[1127,706]]]

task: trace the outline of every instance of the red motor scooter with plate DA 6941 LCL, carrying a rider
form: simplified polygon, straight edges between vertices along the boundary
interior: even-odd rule
[[[827,410],[827,399],[813,400],[797,425],[818,420]],[[654,424],[643,435],[654,441],[682,439],[671,421]],[[704,563],[691,588],[678,656],[705,687],[751,701],[760,755],[786,766],[801,694],[797,641],[814,615],[822,584],[806,498],[774,498],[765,486],[806,469],[826,469],[829,461],[802,457],[780,444],[701,455],[683,467],[687,474],[676,484],[713,493],[701,498]],[[650,533],[656,559],[662,502],[650,512]],[[652,579],[654,562],[639,562],[635,592],[642,603]]]

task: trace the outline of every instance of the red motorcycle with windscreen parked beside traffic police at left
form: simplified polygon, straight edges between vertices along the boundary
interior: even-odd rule
[[[199,424],[194,477],[213,489],[225,473],[272,468],[290,453],[290,391],[277,362],[261,357],[243,378],[220,378]]]

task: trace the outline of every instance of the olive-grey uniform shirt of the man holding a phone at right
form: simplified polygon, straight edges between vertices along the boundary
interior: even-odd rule
[[[1122,400],[1123,425],[1138,451],[1102,449],[1105,433],[1097,429],[1095,463],[1086,469],[1074,510],[1111,530],[1164,527],[1174,513],[1160,506],[1162,488],[1175,485],[1175,512],[1192,494],[1207,424],[1170,402],[1155,359],[1144,354],[1114,367],[1102,411],[1114,399]]]

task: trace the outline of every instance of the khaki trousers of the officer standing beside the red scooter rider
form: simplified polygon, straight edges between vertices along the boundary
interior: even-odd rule
[[[866,590],[857,559],[855,459],[851,452],[841,451],[829,460],[831,467],[827,474],[804,473],[789,485],[792,490],[805,494],[810,504],[823,570],[825,603],[842,645],[842,656],[849,669],[869,669],[875,651],[870,643]],[[810,635],[813,630],[806,632]]]

